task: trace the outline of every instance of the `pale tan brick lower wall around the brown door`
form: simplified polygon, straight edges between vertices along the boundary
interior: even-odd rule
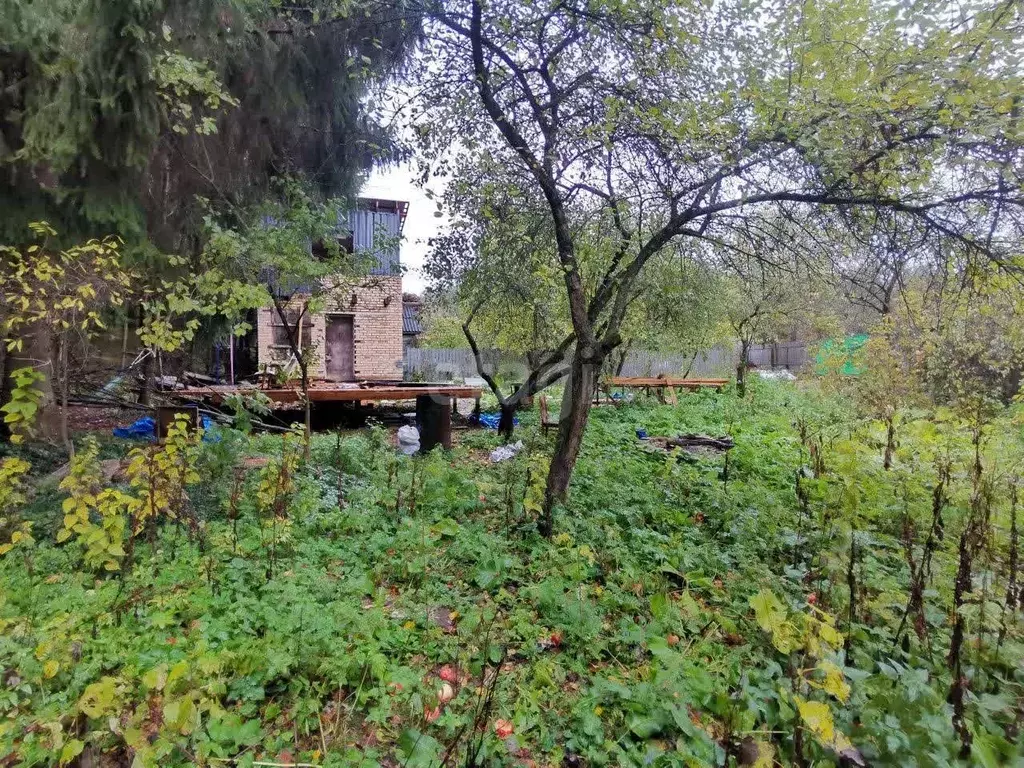
[[[354,297],[354,302],[353,302]],[[293,302],[298,304],[298,302]],[[315,349],[309,375],[323,379],[327,342],[327,315],[351,315],[354,373],[356,379],[398,381],[402,372],[401,278],[375,276],[362,286],[337,291],[328,298],[324,312],[310,315],[310,342]],[[257,313],[256,334],[259,364],[285,364],[291,359],[287,345],[273,344],[276,312],[264,307]]]

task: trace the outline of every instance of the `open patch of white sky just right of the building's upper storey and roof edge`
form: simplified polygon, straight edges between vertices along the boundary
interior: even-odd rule
[[[439,193],[440,189],[434,188],[434,191]],[[375,169],[359,194],[365,198],[409,202],[401,242],[401,263],[406,266],[401,287],[410,293],[423,293],[425,282],[420,267],[427,252],[427,240],[439,233],[445,225],[445,219],[434,216],[436,203],[428,200],[423,189],[413,182],[413,172],[407,164]]]

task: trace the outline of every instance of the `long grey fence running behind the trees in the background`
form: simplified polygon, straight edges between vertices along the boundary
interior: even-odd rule
[[[482,352],[489,371],[497,371],[501,378],[521,381],[526,376],[525,361],[496,349]],[[807,365],[807,343],[787,341],[778,344],[751,347],[750,361],[758,368],[785,368],[797,371]],[[689,376],[728,376],[735,372],[739,361],[739,347],[717,346],[696,357],[685,354],[665,354],[633,350],[626,356],[623,376],[659,376],[662,374]],[[404,375],[407,381],[453,381],[475,378],[476,362],[469,349],[406,349]]]

